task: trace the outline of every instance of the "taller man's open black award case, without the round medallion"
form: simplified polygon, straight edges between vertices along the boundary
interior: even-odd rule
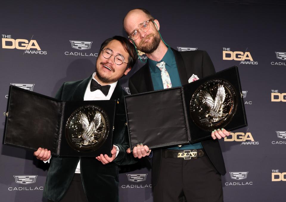
[[[194,111],[192,107],[196,102],[195,93],[200,98],[203,96],[199,92],[203,91],[200,87],[207,87],[210,86],[209,83],[218,81],[229,85],[235,109],[230,108],[228,119],[215,129],[234,130],[247,126],[238,68],[234,66],[182,87],[125,96],[130,148],[141,143],[150,149],[164,148],[211,138],[211,131],[215,126],[202,127],[191,112]],[[211,95],[218,90],[209,87],[209,91]],[[205,105],[203,103],[200,106]],[[202,110],[203,108],[201,107]]]

